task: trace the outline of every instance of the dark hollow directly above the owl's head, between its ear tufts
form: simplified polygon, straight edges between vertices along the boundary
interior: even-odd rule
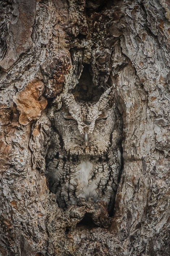
[[[101,89],[93,83],[93,71],[90,64],[83,65],[83,71],[72,93],[77,101],[98,101],[102,95]]]

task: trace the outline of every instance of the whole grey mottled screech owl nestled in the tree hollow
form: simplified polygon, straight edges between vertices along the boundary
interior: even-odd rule
[[[122,163],[122,122],[113,98],[110,88],[97,102],[65,93],[55,112],[46,177],[64,210],[91,197],[112,209]]]

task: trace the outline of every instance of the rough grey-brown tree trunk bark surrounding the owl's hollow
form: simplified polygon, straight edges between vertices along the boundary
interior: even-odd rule
[[[3,0],[0,13],[0,255],[169,255],[170,1]],[[53,109],[85,67],[123,118],[112,217],[101,203],[64,212],[44,176]]]

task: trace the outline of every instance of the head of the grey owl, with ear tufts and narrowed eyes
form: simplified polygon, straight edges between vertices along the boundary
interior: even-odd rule
[[[115,123],[113,97],[110,88],[95,103],[77,102],[72,93],[63,95],[54,125],[65,151],[71,155],[101,156],[109,150]]]

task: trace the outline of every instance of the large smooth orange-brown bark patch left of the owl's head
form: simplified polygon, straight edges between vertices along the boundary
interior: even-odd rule
[[[42,81],[33,80],[22,91],[16,93],[14,102],[21,112],[20,124],[27,125],[31,120],[37,119],[46,108],[47,100],[42,97],[43,91]]]

